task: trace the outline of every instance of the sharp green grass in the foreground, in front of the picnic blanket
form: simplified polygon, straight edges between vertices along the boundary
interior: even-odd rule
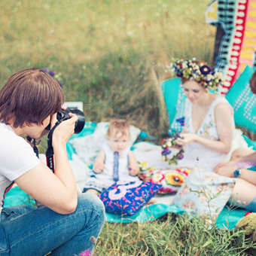
[[[96,255],[256,255],[243,230],[208,227],[202,219],[168,214],[144,224],[106,223]]]

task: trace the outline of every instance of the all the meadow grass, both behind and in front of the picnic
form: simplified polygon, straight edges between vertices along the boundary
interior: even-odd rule
[[[84,102],[87,120],[123,117],[160,137],[169,125],[159,87],[169,78],[166,65],[172,57],[213,62],[209,2],[2,0],[0,87],[20,69],[48,68],[66,101]],[[242,231],[169,214],[146,224],[105,224],[96,254],[251,255],[255,246]]]

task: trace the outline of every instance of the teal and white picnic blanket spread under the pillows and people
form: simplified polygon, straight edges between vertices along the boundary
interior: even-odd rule
[[[87,180],[87,174],[90,172],[90,168],[101,149],[102,142],[105,140],[105,133],[108,128],[108,123],[85,123],[84,130],[72,136],[67,144],[67,151],[69,162],[72,165],[72,169],[75,175],[75,179],[78,184],[78,190],[83,189],[83,184]],[[140,161],[148,161],[155,152],[159,150],[160,146],[155,145],[152,142],[143,142],[145,137],[151,138],[146,133],[142,132],[138,128],[132,126],[130,130],[133,146],[132,150],[136,157]],[[244,143],[244,141],[242,141]],[[239,142],[236,143],[239,147]],[[79,153],[77,153],[79,152]],[[44,155],[40,155],[41,160],[44,160]],[[144,206],[134,215],[121,216],[106,213],[106,221],[108,222],[121,222],[128,223],[132,221],[145,222],[151,221],[155,218],[160,218],[168,212],[177,214],[184,213],[183,209],[179,209],[177,206],[172,205],[174,195],[157,195],[154,197],[157,203]],[[5,207],[14,206],[19,204],[33,204],[35,203],[31,197],[29,197],[19,187],[13,187],[5,197]],[[232,229],[235,227],[237,221],[242,218],[247,211],[245,209],[230,209],[226,206],[217,219],[217,227],[227,227]]]

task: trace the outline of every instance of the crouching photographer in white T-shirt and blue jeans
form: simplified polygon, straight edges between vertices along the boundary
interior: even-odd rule
[[[57,81],[41,69],[24,69],[0,90],[0,201],[14,182],[44,205],[0,206],[1,255],[74,255],[90,249],[104,224],[104,206],[93,194],[77,194],[66,142],[78,117],[53,132],[53,173],[21,136],[41,139],[64,102]]]

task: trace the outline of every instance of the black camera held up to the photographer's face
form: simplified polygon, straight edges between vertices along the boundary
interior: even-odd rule
[[[67,108],[66,110],[59,109],[57,113],[57,120],[59,121],[59,123],[71,118],[69,113],[73,113],[78,116],[78,120],[75,122],[75,133],[78,134],[84,128],[84,123],[85,123],[84,113],[77,108]],[[50,123],[45,129],[50,130]]]

